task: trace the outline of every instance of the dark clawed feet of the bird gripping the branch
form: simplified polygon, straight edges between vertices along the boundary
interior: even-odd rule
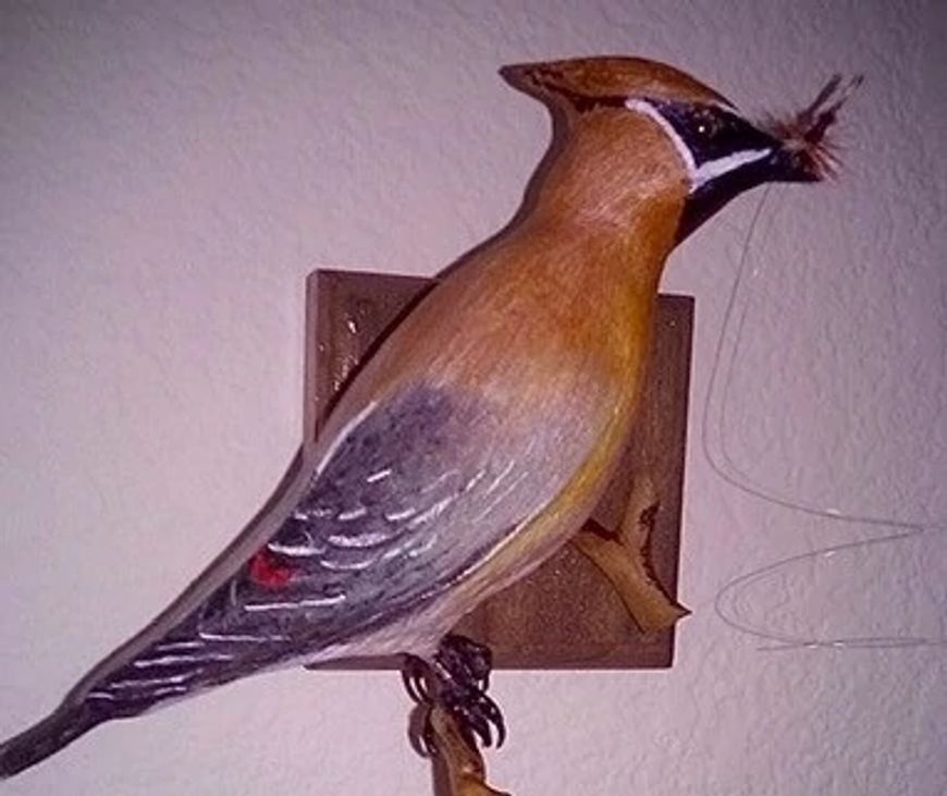
[[[503,713],[489,696],[492,654],[483,645],[458,635],[447,635],[438,647],[430,663],[420,658],[408,657],[403,677],[411,698],[429,708],[423,732],[428,752],[436,748],[431,727],[430,708],[440,706],[457,724],[465,740],[477,748],[477,739],[483,746],[503,745],[506,725]]]

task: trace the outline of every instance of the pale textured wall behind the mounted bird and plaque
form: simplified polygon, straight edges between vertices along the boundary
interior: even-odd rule
[[[548,123],[496,77],[511,61],[645,54],[751,109],[866,73],[841,179],[774,191],[750,246],[723,438],[792,502],[947,517],[944,8],[3,3],[0,735],[52,708],[269,493],[299,437],[306,273],[432,273],[514,211]],[[758,203],[688,242],[666,280],[699,313],[677,663],[497,676],[512,739],[491,771],[517,796],[947,793],[943,647],[760,652],[714,611],[740,574],[890,532],[754,499],[702,451]],[[807,560],[753,584],[742,615],[804,637],[943,638],[945,561],[936,534]],[[407,709],[392,674],[287,672],[104,726],[2,788],[426,794]]]

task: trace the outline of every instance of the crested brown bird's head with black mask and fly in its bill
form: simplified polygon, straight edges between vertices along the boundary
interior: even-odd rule
[[[606,174],[642,175],[649,191],[682,194],[677,241],[749,188],[831,175],[836,158],[826,132],[861,81],[843,86],[835,76],[795,115],[754,123],[690,75],[639,58],[516,64],[501,74],[550,108],[557,138],[597,136],[607,150],[600,167],[610,189],[616,186]]]

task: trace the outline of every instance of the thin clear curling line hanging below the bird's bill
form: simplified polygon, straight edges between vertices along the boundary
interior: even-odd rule
[[[922,535],[939,535],[947,530],[947,523],[943,522],[918,523],[896,516],[843,512],[835,507],[816,505],[759,482],[739,467],[730,455],[726,434],[727,409],[731,406],[731,387],[735,380],[736,363],[739,360],[745,341],[749,308],[753,304],[750,283],[762,274],[760,268],[750,267],[750,253],[768,199],[770,187],[767,186],[750,220],[737,264],[737,274],[724,310],[723,326],[714,352],[710,383],[703,405],[701,446],[704,457],[718,477],[753,498],[827,522],[866,526],[884,532],[870,539],[847,541],[779,559],[752,572],[739,575],[720,589],[714,599],[714,610],[734,629],[772,642],[760,648],[764,650],[887,649],[947,645],[947,637],[928,635],[866,635],[829,638],[800,636],[774,630],[747,616],[746,598],[749,589],[763,580],[786,574],[792,567],[820,562],[836,555],[851,555],[875,547],[903,544],[906,541]]]

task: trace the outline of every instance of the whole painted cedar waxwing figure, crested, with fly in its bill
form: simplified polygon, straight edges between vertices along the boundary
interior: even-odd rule
[[[445,634],[595,506],[635,417],[674,246],[748,188],[823,179],[847,93],[836,78],[791,121],[755,126],[651,61],[502,74],[555,120],[515,222],[451,268],[365,364],[271,509],[52,714],[0,746],[0,774],[238,677],[366,656],[425,662],[423,678],[409,677],[418,696],[468,736],[502,738],[489,653]]]

